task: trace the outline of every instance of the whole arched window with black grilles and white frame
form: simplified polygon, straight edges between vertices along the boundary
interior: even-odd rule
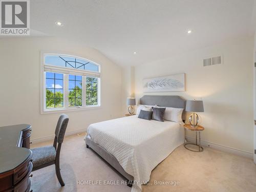
[[[100,106],[100,65],[62,54],[42,54],[41,112]]]

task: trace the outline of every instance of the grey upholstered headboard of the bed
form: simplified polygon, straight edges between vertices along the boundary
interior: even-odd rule
[[[178,95],[144,95],[140,104],[167,106],[169,108],[183,108],[182,119],[185,120],[186,100]]]

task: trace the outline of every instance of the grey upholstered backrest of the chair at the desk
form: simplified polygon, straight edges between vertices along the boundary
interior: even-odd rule
[[[69,122],[68,115],[66,115],[66,114],[60,115],[57,126],[56,126],[56,130],[55,130],[55,138],[58,143],[63,142],[65,132],[66,132],[66,129],[68,126],[68,122]]]

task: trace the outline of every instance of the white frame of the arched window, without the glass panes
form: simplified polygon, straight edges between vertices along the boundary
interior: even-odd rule
[[[53,56],[67,56],[67,57],[75,57],[83,60],[88,60],[95,65],[98,66],[99,72],[87,71],[87,70],[78,70],[71,68],[63,68],[59,66],[46,65],[45,64],[45,56],[53,55]],[[40,52],[41,66],[40,66],[40,112],[41,114],[49,114],[49,113],[62,113],[68,111],[79,111],[79,110],[92,110],[92,109],[100,109],[101,108],[101,66],[91,61],[90,59],[82,58],[75,55],[70,54],[59,54],[41,51]],[[46,72],[53,73],[62,73],[63,74],[63,108],[46,108]],[[69,106],[69,74],[72,75],[81,75],[82,76],[82,106]],[[97,105],[86,105],[86,77],[97,77],[97,95],[98,95],[98,104]]]

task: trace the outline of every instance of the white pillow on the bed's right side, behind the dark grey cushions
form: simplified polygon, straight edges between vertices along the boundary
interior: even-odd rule
[[[165,109],[165,114],[164,114],[164,120],[167,121],[174,121],[177,123],[182,122],[182,112],[184,109],[180,108],[168,108],[165,106],[158,106],[155,105],[154,108],[166,108]]]

